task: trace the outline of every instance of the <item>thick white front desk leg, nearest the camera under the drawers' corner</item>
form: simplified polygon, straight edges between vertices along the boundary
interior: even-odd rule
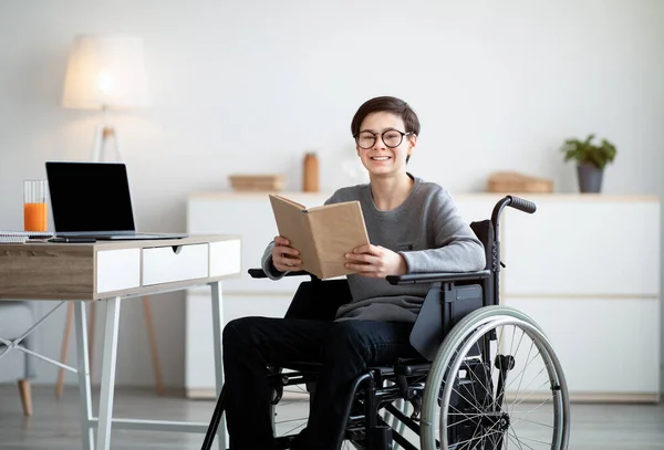
[[[100,421],[96,442],[97,450],[108,450],[108,448],[111,448],[117,331],[120,327],[120,301],[121,297],[118,296],[106,300],[106,323],[104,325],[104,349],[102,358],[102,388],[100,394]]]

